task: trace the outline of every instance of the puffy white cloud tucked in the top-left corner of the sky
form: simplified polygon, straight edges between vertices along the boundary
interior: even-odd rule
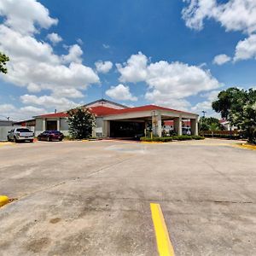
[[[22,34],[38,32],[37,26],[47,29],[58,23],[57,19],[49,17],[49,10],[35,0],[1,1],[0,15],[6,17],[6,26]]]

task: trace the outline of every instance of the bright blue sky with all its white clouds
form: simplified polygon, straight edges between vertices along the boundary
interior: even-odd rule
[[[0,15],[1,119],[102,96],[213,114],[219,90],[256,85],[253,0],[7,0]]]

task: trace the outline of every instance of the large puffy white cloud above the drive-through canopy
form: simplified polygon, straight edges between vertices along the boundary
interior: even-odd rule
[[[199,92],[221,86],[208,70],[182,62],[158,61],[149,63],[148,57],[139,52],[131,55],[123,65],[117,64],[120,81],[148,84],[146,99],[155,104],[172,108],[189,108],[185,99]]]

